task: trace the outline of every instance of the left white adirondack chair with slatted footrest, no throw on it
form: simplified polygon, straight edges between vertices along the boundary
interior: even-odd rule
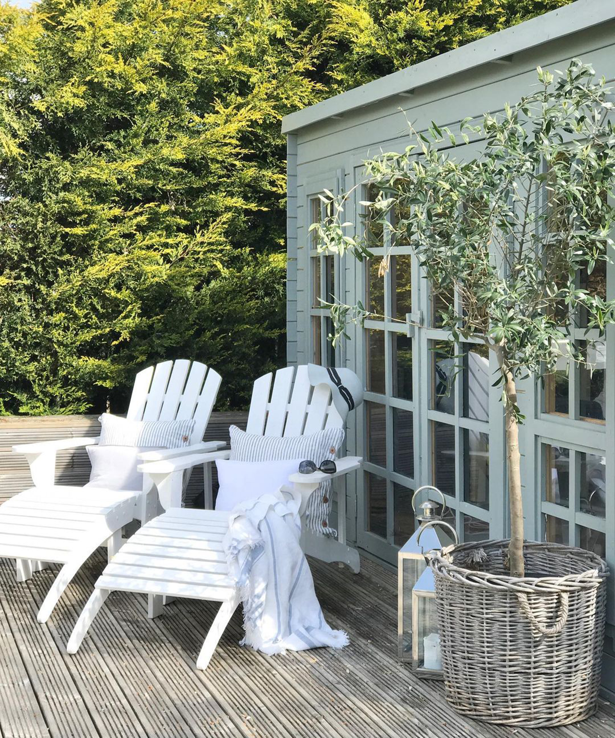
[[[179,359],[140,371],[132,390],[127,417],[131,420],[194,418],[190,446],[157,452],[157,458],[179,458],[219,449],[224,441],[203,443],[221,377],[205,364]],[[0,556],[16,559],[17,580],[50,562],[62,564],[38,612],[44,623],[63,590],[83,562],[100,545],[107,545],[109,559],[122,545],[123,525],[137,518],[142,523],[158,514],[154,484],[143,477],[142,492],[95,487],[55,486],[55,454],[59,449],[97,444],[98,438],[69,438],[39,444],[13,446],[30,463],[35,486],[16,494],[0,507]]]

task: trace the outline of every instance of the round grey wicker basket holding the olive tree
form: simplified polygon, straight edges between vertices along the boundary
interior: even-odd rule
[[[526,543],[517,579],[507,548],[467,543],[431,559],[447,700],[489,723],[576,723],[597,709],[608,569],[580,548]]]

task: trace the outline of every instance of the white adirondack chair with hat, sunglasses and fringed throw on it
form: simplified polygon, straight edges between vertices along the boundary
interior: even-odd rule
[[[257,379],[252,390],[247,431],[264,435],[304,435],[324,427],[342,426],[342,418],[333,404],[326,385],[312,387],[306,366],[280,369],[275,374],[271,398],[272,374]],[[292,393],[291,393],[292,389]],[[156,452],[148,454],[154,457]],[[228,451],[186,455],[179,459],[149,461],[140,466],[152,477],[166,512],[137,531],[97,580],[95,592],[83,609],[69,639],[69,653],[78,651],[98,610],[114,590],[148,595],[148,616],[162,613],[163,598],[186,597],[219,601],[221,606],[207,633],[196,661],[197,669],[206,669],[222,633],[239,604],[238,592],[228,576],[222,539],[228,529],[228,513],[182,508],[181,477],[185,469],[209,465],[216,458],[228,458]],[[289,482],[301,492],[300,514],[305,514],[310,495],[321,481],[341,477],[360,467],[355,456],[337,460],[337,472],[325,475],[292,475]],[[359,571],[359,554],[346,545],[346,499],[338,499],[337,527],[341,540],[305,531],[302,545],[306,553],[327,562],[346,562]]]

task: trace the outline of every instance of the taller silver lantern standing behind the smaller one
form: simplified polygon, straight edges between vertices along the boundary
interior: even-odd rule
[[[434,492],[442,497],[442,511],[437,514],[438,506],[436,503],[427,500],[419,506],[420,512],[415,514],[416,520],[419,522],[419,528],[415,531],[402,548],[399,549],[397,555],[397,643],[399,661],[412,661],[412,589],[419,576],[427,568],[424,551],[430,551],[432,548],[445,548],[453,542],[448,534],[440,527],[433,528],[431,525],[425,527],[427,523],[433,523],[442,519],[446,503],[444,494],[437,487],[425,485],[419,487],[412,496],[410,503],[414,508],[414,500],[419,492],[426,489],[433,489]],[[421,545],[419,545],[419,531],[425,528],[422,534]],[[454,532],[454,531],[453,531]]]

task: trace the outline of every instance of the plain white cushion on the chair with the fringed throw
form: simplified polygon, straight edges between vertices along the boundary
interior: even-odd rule
[[[216,510],[232,510],[238,503],[274,494],[288,484],[288,477],[299,469],[303,459],[284,461],[230,461],[216,460],[218,496]]]

